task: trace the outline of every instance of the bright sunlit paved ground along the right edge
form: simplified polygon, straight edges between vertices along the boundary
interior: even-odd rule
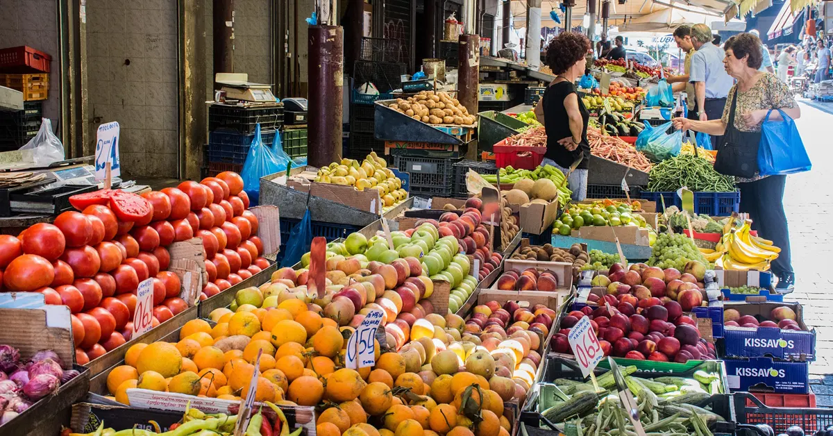
[[[833,158],[833,112],[802,101],[796,124],[814,166],[809,173],[787,178],[784,193],[796,271],[791,299],[802,303],[806,324],[816,328],[817,357],[810,365],[816,403],[833,406],[833,172],[826,169]]]

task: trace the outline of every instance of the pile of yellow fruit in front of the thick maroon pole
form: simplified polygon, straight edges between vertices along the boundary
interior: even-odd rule
[[[342,159],[341,162],[330,163],[318,170],[313,182],[352,186],[359,191],[376,189],[387,208],[408,198],[407,191],[402,189],[402,180],[387,168],[385,159],[378,157],[376,152],[368,154],[362,162]]]

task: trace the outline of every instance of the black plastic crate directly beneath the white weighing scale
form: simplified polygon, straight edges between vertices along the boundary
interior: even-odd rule
[[[267,107],[241,107],[212,104],[208,107],[208,130],[227,128],[240,133],[255,132],[257,124],[261,129],[277,130],[283,125],[283,104]]]

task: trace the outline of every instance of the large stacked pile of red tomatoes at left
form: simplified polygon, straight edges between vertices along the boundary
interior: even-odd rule
[[[72,312],[77,363],[130,340],[138,284],[153,278],[153,326],[188,308],[167,246],[202,238],[211,297],[269,266],[237,173],[138,196],[100,190],[70,198],[81,212],[0,235],[0,291],[43,293]]]

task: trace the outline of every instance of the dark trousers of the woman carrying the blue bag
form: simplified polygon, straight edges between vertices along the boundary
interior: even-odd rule
[[[740,210],[749,213],[752,229],[761,238],[771,239],[776,247],[781,248],[781,254],[772,261],[772,272],[779,275],[793,272],[790,232],[784,213],[785,184],[786,176],[770,176],[755,182],[737,183],[741,189]]]

